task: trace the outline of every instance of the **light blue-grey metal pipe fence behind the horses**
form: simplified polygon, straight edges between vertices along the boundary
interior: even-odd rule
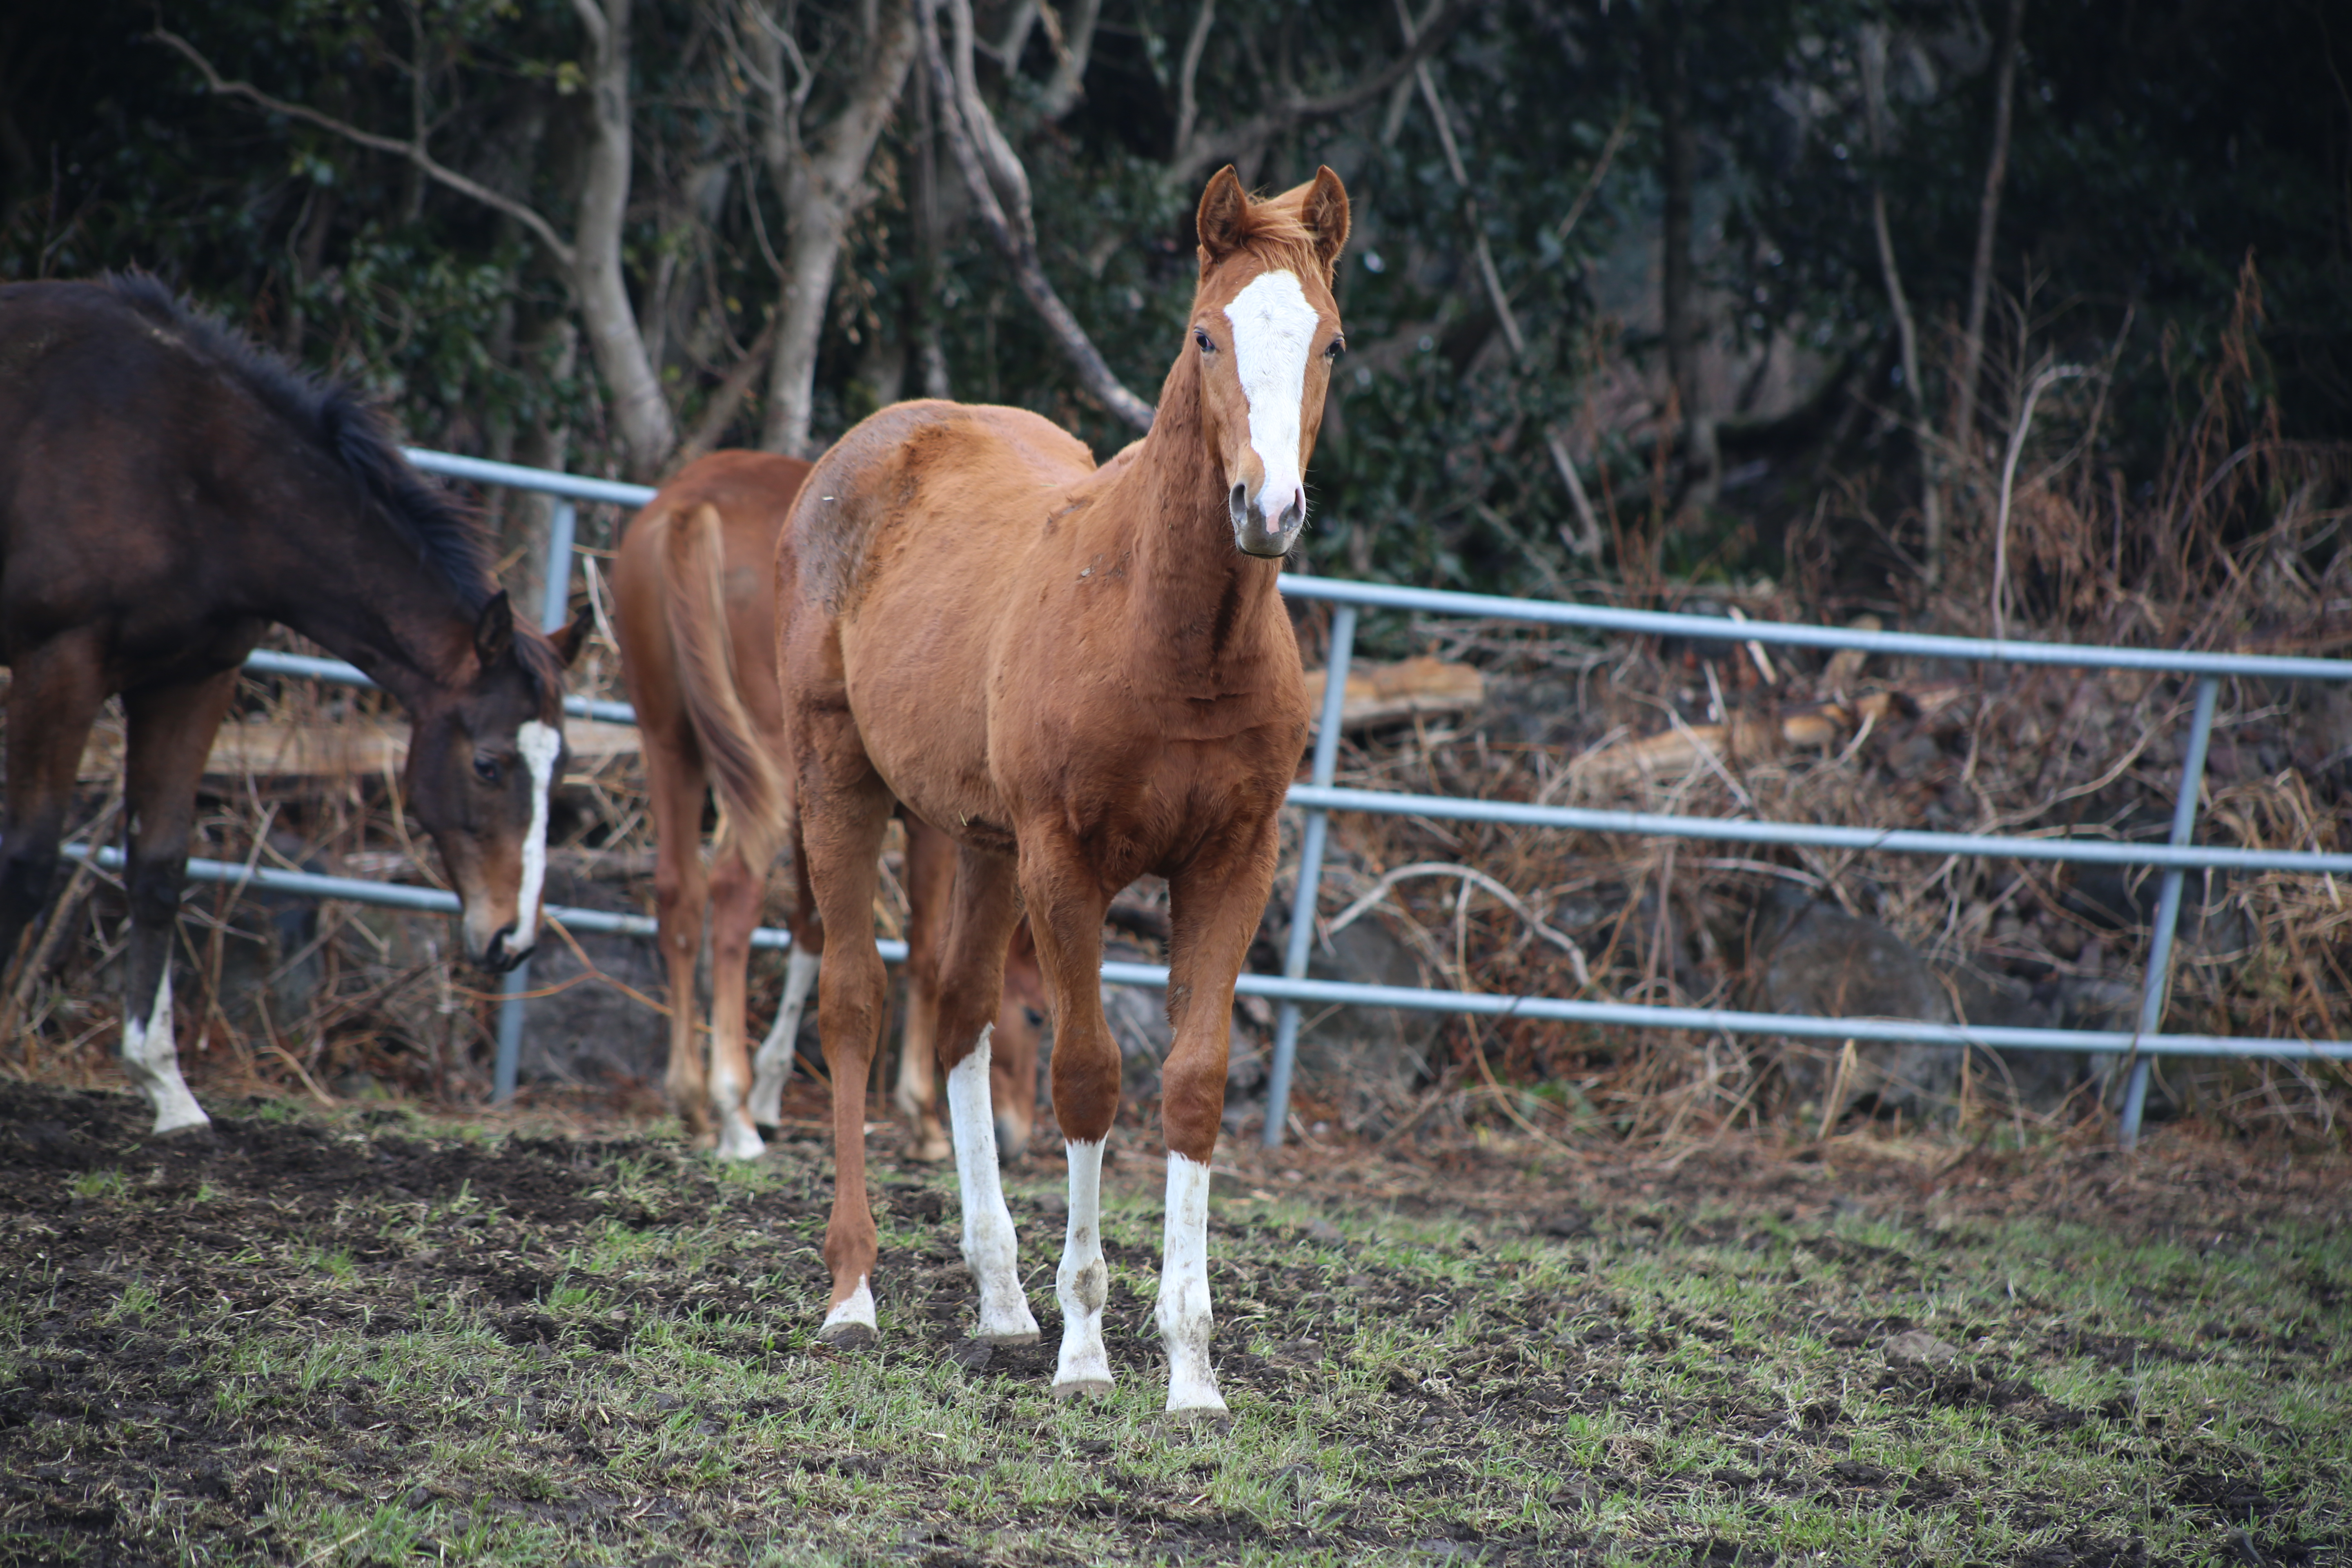
[[[557,571],[555,562],[569,562],[579,501],[644,505],[654,491],[642,484],[614,480],[590,480],[513,463],[489,463],[442,451],[412,449],[409,458],[437,475],[470,480],[477,484],[503,484],[513,489],[557,496],[548,541],[548,585],[543,623],[553,630],[564,621],[569,597],[569,569]],[[1348,1004],[1390,1006],[1416,1011],[1468,1013],[1484,1018],[1538,1018],[1552,1023],[1578,1023],[1595,1027],[1665,1027],[1700,1030],[1722,1034],[1785,1034],[1811,1039],[1870,1039],[1915,1041],[1947,1046],[1987,1046],[2025,1051],[2086,1051],[2110,1053],[2131,1060],[2131,1077],[2124,1091],[2122,1143],[2138,1140],[2143,1107],[2147,1098],[2150,1058],[2154,1056],[2204,1056],[2204,1058],[2277,1058],[2277,1060],[2352,1060],[2352,1041],[2279,1041],[2237,1039],[2204,1034],[2159,1034],[2164,994],[2171,978],[2171,947],[2180,914],[2183,875],[2190,870],[2286,870],[2286,872],[2345,872],[2352,875],[2352,853],[2319,851],[2270,851],[2227,849],[2192,844],[2197,823],[2197,799],[2204,788],[2206,743],[2213,731],[2218,682],[2241,679],[2352,679],[2352,661],[2300,658],[2279,654],[2206,654],[2176,649],[2124,649],[2086,646],[2060,642],[2018,642],[1983,637],[1936,637],[1924,632],[1870,632],[1830,625],[1792,625],[1778,621],[1731,621],[1719,616],[1689,616],[1670,611],[1613,609],[1602,604],[1564,604],[1552,599],[1505,599],[1496,595],[1439,592],[1421,588],[1395,588],[1385,583],[1348,583],[1338,578],[1282,576],[1282,592],[1301,599],[1324,599],[1334,604],[1331,656],[1324,675],[1324,712],[1315,738],[1310,783],[1294,785],[1289,804],[1305,811],[1301,837],[1298,886],[1291,907],[1291,938],[1284,952],[1282,976],[1242,976],[1242,994],[1270,997],[1282,1004],[1275,1025],[1275,1060],[1268,1084],[1265,1143],[1282,1143],[1289,1117],[1289,1081],[1298,1041],[1301,1004]],[[1432,795],[1399,795],[1383,790],[1334,788],[1338,755],[1338,717],[1348,684],[1348,665],[1355,644],[1355,623],[1362,609],[1402,609],[1437,616],[1472,616],[1524,621],[1536,625],[1564,625],[1592,632],[1632,632],[1644,637],[1686,637],[1710,642],[1757,642],[1804,649],[1860,649],[1903,658],[1929,658],[1950,663],[2025,663],[2070,665],[2089,670],[2147,670],[2159,675],[2197,677],[2197,703],[2190,719],[2187,745],[2183,748],[2180,790],[2173,809],[2173,825],[2166,844],[2131,844],[2098,837],[2049,837],[2049,835],[1971,835],[1971,832],[1917,832],[1917,830],[1870,830],[1839,827],[1830,823],[1766,823],[1738,818],[1698,818],[1644,811],[1590,811],[1578,806],[1536,806],[1524,802],[1484,802]],[[254,654],[247,661],[256,675],[294,675],[348,684],[369,684],[355,668],[332,658],[301,658],[292,654]],[[604,722],[633,722],[628,703],[597,703],[567,698],[564,710]],[[2157,919],[2150,943],[2150,966],[2143,987],[2140,1027],[2131,1032],[2103,1030],[2016,1030],[1978,1025],[1938,1025],[1900,1018],[1813,1018],[1799,1013],[1745,1013],[1733,1009],[1675,1009],[1635,1006],[1621,1001],[1581,1001],[1562,997],[1494,997],[1479,992],[1442,992],[1390,985],[1350,985],[1338,980],[1305,978],[1315,903],[1322,882],[1322,856],[1331,811],[1369,811],[1428,816],[1444,820],[1508,823],[1522,827],[1552,827],[1573,832],[1616,835],[1665,835],[1691,839],[1722,839],[1740,844],[1795,844],[1846,851],[1893,851],[1929,856],[1992,856],[2016,860],[2067,860],[2093,865],[2150,865],[2161,870]],[[111,856],[113,851],[101,851]],[[198,882],[252,882],[287,893],[315,898],[353,898],[362,903],[397,903],[416,910],[454,910],[456,900],[437,889],[407,889],[381,882],[355,882],[343,877],[313,877],[282,870],[247,872],[240,865],[191,860],[191,879]],[[600,910],[550,907],[550,917],[581,931],[612,931],[626,936],[652,936],[654,922],[642,914],[612,914]],[[786,931],[755,933],[755,947],[786,947]],[[903,957],[903,943],[882,943],[887,959]],[[1103,980],[1112,985],[1167,987],[1167,969],[1155,964],[1103,964]],[[506,1098],[515,1086],[515,1070],[522,1039],[522,992],[527,973],[508,978],[508,994],[499,1023],[496,1093]]]

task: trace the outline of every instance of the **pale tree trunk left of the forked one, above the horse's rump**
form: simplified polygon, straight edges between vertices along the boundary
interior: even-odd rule
[[[630,136],[628,136],[628,7],[630,0],[574,0],[588,28],[595,71],[590,73],[595,110],[588,136],[588,160],[581,172],[581,216],[574,230],[572,287],[579,294],[581,320],[588,327],[588,353],[612,393],[614,423],[628,449],[630,473],[644,477],[677,444],[677,423],[661,395],[654,362],[644,353],[637,310],[628,299],[621,270],[621,223],[628,214]]]

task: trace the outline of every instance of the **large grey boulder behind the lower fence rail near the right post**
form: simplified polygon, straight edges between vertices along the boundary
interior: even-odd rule
[[[1952,997],[1910,943],[1863,914],[1795,889],[1778,889],[1757,912],[1750,961],[1752,1006],[1816,1018],[1922,1018],[1952,1023]],[[1790,1041],[1788,1074],[1799,1093],[1830,1093],[1842,1048]],[[1950,1114],[1959,1088],[1959,1046],[1858,1041],[1846,1105]]]

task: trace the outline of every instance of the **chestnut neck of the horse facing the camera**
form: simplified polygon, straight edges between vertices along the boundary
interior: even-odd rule
[[[1152,430],[1112,491],[1105,520],[1115,515],[1131,531],[1141,588],[1134,656],[1171,675],[1261,658],[1279,621],[1282,562],[1242,555],[1232,543],[1225,480],[1200,433],[1190,355],[1169,374]]]

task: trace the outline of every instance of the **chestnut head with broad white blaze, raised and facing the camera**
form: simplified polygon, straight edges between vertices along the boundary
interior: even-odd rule
[[[1308,456],[1345,346],[1331,299],[1343,244],[1348,193],[1331,169],[1254,202],[1228,167],[1200,197],[1200,421],[1249,555],[1289,555],[1308,520]]]

